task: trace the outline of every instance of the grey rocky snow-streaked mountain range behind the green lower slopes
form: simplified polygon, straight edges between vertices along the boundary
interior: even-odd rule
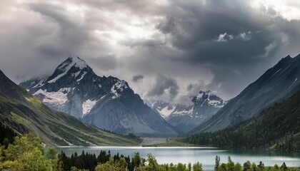
[[[81,58],[68,58],[46,78],[21,83],[54,110],[99,128],[142,136],[175,136],[230,128],[300,90],[300,55],[286,56],[239,95],[224,101],[200,91],[192,105],[143,100],[126,81],[96,76]],[[146,105],[148,104],[151,108]],[[196,128],[195,128],[196,127]]]

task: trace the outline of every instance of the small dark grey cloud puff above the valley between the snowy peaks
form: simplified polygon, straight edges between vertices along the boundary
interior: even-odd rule
[[[179,93],[179,86],[174,78],[168,78],[164,75],[157,75],[154,87],[148,92],[149,96],[167,95],[170,99],[176,97]]]

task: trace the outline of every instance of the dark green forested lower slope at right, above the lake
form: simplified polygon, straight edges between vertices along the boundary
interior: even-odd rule
[[[216,133],[191,135],[188,140],[214,147],[300,150],[300,91],[284,102],[275,103],[256,118]]]

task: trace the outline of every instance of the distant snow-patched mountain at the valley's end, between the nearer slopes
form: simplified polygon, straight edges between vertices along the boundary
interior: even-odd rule
[[[146,103],[157,110],[166,122],[184,133],[211,118],[226,104],[226,101],[211,93],[210,90],[200,90],[198,95],[192,97],[191,102],[193,105],[189,106],[166,103],[161,100],[149,100]]]

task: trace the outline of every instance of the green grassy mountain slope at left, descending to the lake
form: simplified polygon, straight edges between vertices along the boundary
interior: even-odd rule
[[[49,109],[1,71],[0,122],[19,134],[37,133],[48,145],[137,145],[140,141],[108,133]]]

